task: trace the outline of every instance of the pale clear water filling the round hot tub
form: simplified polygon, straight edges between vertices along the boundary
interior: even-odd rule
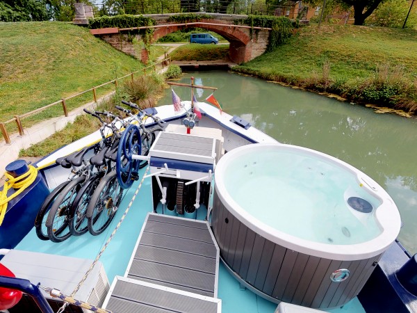
[[[232,175],[233,173],[238,173]],[[227,168],[231,197],[261,222],[302,239],[347,245],[381,233],[372,212],[359,220],[348,209],[345,191],[380,201],[364,191],[356,175],[309,154],[268,151],[246,155]]]

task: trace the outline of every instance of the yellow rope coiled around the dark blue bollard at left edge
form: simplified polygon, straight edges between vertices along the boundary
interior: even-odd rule
[[[0,225],[3,223],[4,216],[6,215],[8,202],[17,197],[17,195],[22,193],[26,188],[28,188],[28,186],[31,186],[31,184],[35,182],[38,170],[33,166],[29,166],[29,170],[18,177],[13,177],[8,172],[4,175],[8,178],[8,180],[4,183],[3,191],[0,191]],[[17,191],[8,197],[7,192],[10,188],[15,188]]]

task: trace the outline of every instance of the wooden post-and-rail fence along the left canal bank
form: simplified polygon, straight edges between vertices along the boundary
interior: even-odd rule
[[[171,63],[171,58],[167,58],[166,57],[166,54],[165,54],[165,58],[160,63],[162,65],[162,68],[165,67],[165,63],[167,63],[167,64],[170,64]],[[94,87],[92,87],[92,88],[90,88],[88,90],[81,91],[81,93],[77,93],[75,95],[71,95],[70,97],[62,98],[62,99],[60,99],[60,100],[58,100],[56,102],[53,102],[51,104],[47,104],[46,106],[42,106],[41,108],[38,108],[38,109],[35,109],[33,111],[24,113],[22,115],[15,115],[14,118],[10,118],[10,120],[6,120],[6,122],[0,122],[0,131],[1,131],[1,134],[3,134],[4,141],[6,141],[6,144],[7,145],[10,145],[11,144],[10,136],[9,136],[8,131],[6,129],[6,125],[8,123],[16,122],[17,131],[19,131],[19,136],[24,136],[24,129],[23,129],[23,125],[22,125],[22,119],[27,118],[28,116],[31,116],[33,114],[42,112],[42,111],[50,108],[51,106],[55,106],[56,104],[62,104],[63,111],[64,111],[64,115],[65,116],[68,116],[67,104],[65,103],[67,100],[72,99],[72,98],[75,98],[75,97],[79,97],[80,95],[83,95],[85,93],[92,92],[92,98],[93,98],[94,102],[97,103],[97,92],[96,92],[97,88],[101,88],[103,86],[107,86],[110,83],[114,83],[115,84],[115,88],[117,88],[118,81],[119,80],[124,79],[124,78],[129,77],[129,76],[133,80],[134,74],[136,74],[138,72],[143,72],[143,74],[146,74],[146,72],[147,72],[147,70],[149,70],[149,68],[152,68],[154,71],[156,71],[156,64],[150,65],[150,66],[147,66],[147,67],[144,67],[141,70],[137,70],[135,72],[131,72],[129,74],[124,75],[123,77],[119,77],[119,78],[113,79],[111,81],[107,81],[106,83],[101,83],[101,85],[99,85],[99,86],[94,86]]]

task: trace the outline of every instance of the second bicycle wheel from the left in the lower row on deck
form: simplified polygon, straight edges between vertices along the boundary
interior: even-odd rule
[[[48,237],[52,242],[61,242],[70,238],[69,212],[83,182],[85,182],[85,176],[72,180],[52,204],[46,223]]]

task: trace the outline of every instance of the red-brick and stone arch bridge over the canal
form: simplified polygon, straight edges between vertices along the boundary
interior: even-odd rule
[[[198,13],[197,13],[198,14]],[[200,19],[198,22],[190,23],[170,23],[167,20],[174,14],[165,15],[144,15],[152,17],[156,21],[154,28],[154,34],[152,42],[156,42],[159,38],[179,31],[181,29],[199,27],[206,29],[207,31],[213,31],[218,33],[223,38],[230,42],[229,45],[229,58],[234,63],[243,63],[260,56],[265,52],[268,46],[269,32],[271,29],[265,29],[261,27],[251,27],[245,25],[235,25],[236,19],[245,19],[247,15],[224,15],[215,13],[204,13],[204,15],[211,15],[212,18]],[[147,62],[147,50],[137,51],[132,42],[133,29],[92,29],[90,30],[93,35],[99,36],[101,39],[106,40],[116,49],[141,58],[145,63]],[[256,31],[253,31],[255,29]],[[129,33],[129,35],[128,35]],[[140,35],[135,35],[140,40]]]

